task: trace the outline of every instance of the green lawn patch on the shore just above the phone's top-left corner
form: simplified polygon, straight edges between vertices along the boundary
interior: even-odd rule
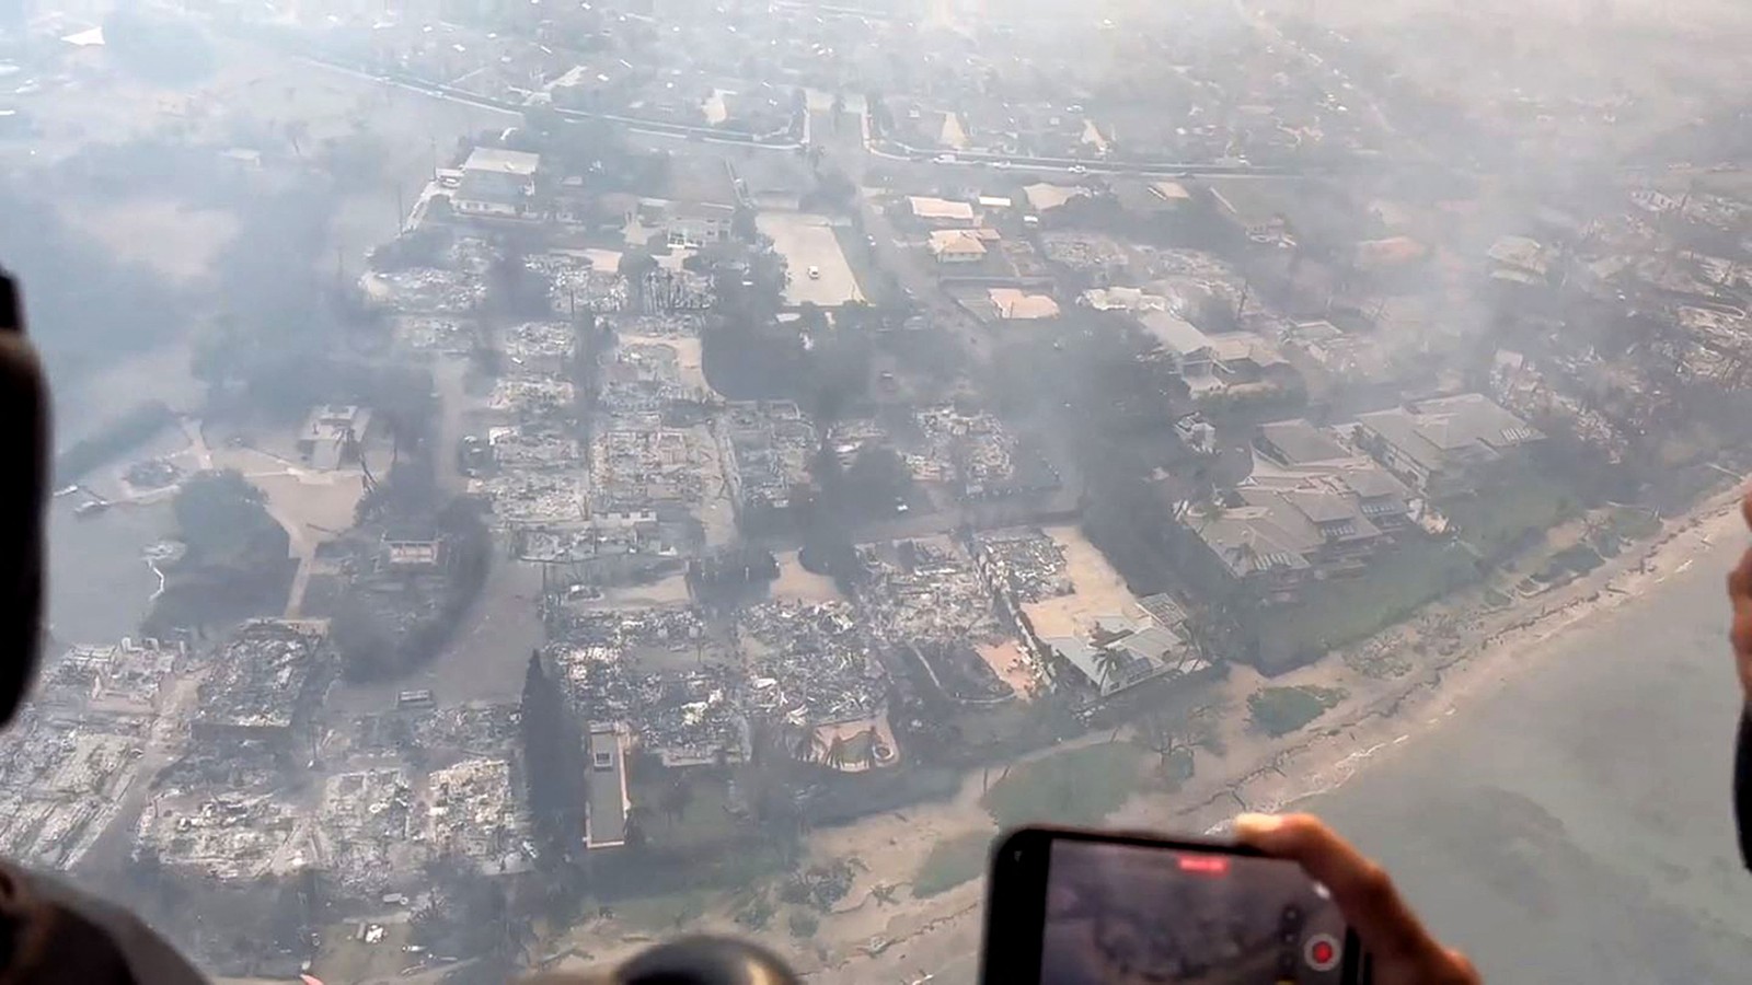
[[[1141,754],[1130,743],[1100,743],[1023,762],[992,783],[981,801],[999,827],[1095,826],[1137,789]]]

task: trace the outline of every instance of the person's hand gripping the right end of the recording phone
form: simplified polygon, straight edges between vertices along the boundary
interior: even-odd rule
[[[1332,892],[1346,922],[1374,957],[1375,985],[1479,985],[1466,955],[1430,936],[1381,864],[1307,813],[1244,813],[1235,838],[1302,866]]]

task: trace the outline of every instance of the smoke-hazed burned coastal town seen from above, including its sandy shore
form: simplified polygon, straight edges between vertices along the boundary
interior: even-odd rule
[[[1337,789],[1726,529],[1748,18],[0,0],[0,855],[217,978],[971,981],[1000,829]]]

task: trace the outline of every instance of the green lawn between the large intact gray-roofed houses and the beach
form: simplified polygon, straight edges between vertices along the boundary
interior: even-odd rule
[[[1319,582],[1300,603],[1274,610],[1260,629],[1263,663],[1274,670],[1307,663],[1477,580],[1479,568],[1461,547],[1410,540],[1375,557],[1361,575]]]

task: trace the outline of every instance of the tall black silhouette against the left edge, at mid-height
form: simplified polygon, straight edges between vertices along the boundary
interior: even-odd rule
[[[0,422],[12,463],[0,475],[0,724],[9,724],[37,675],[42,641],[42,535],[49,494],[49,387],[18,289],[0,272]]]

